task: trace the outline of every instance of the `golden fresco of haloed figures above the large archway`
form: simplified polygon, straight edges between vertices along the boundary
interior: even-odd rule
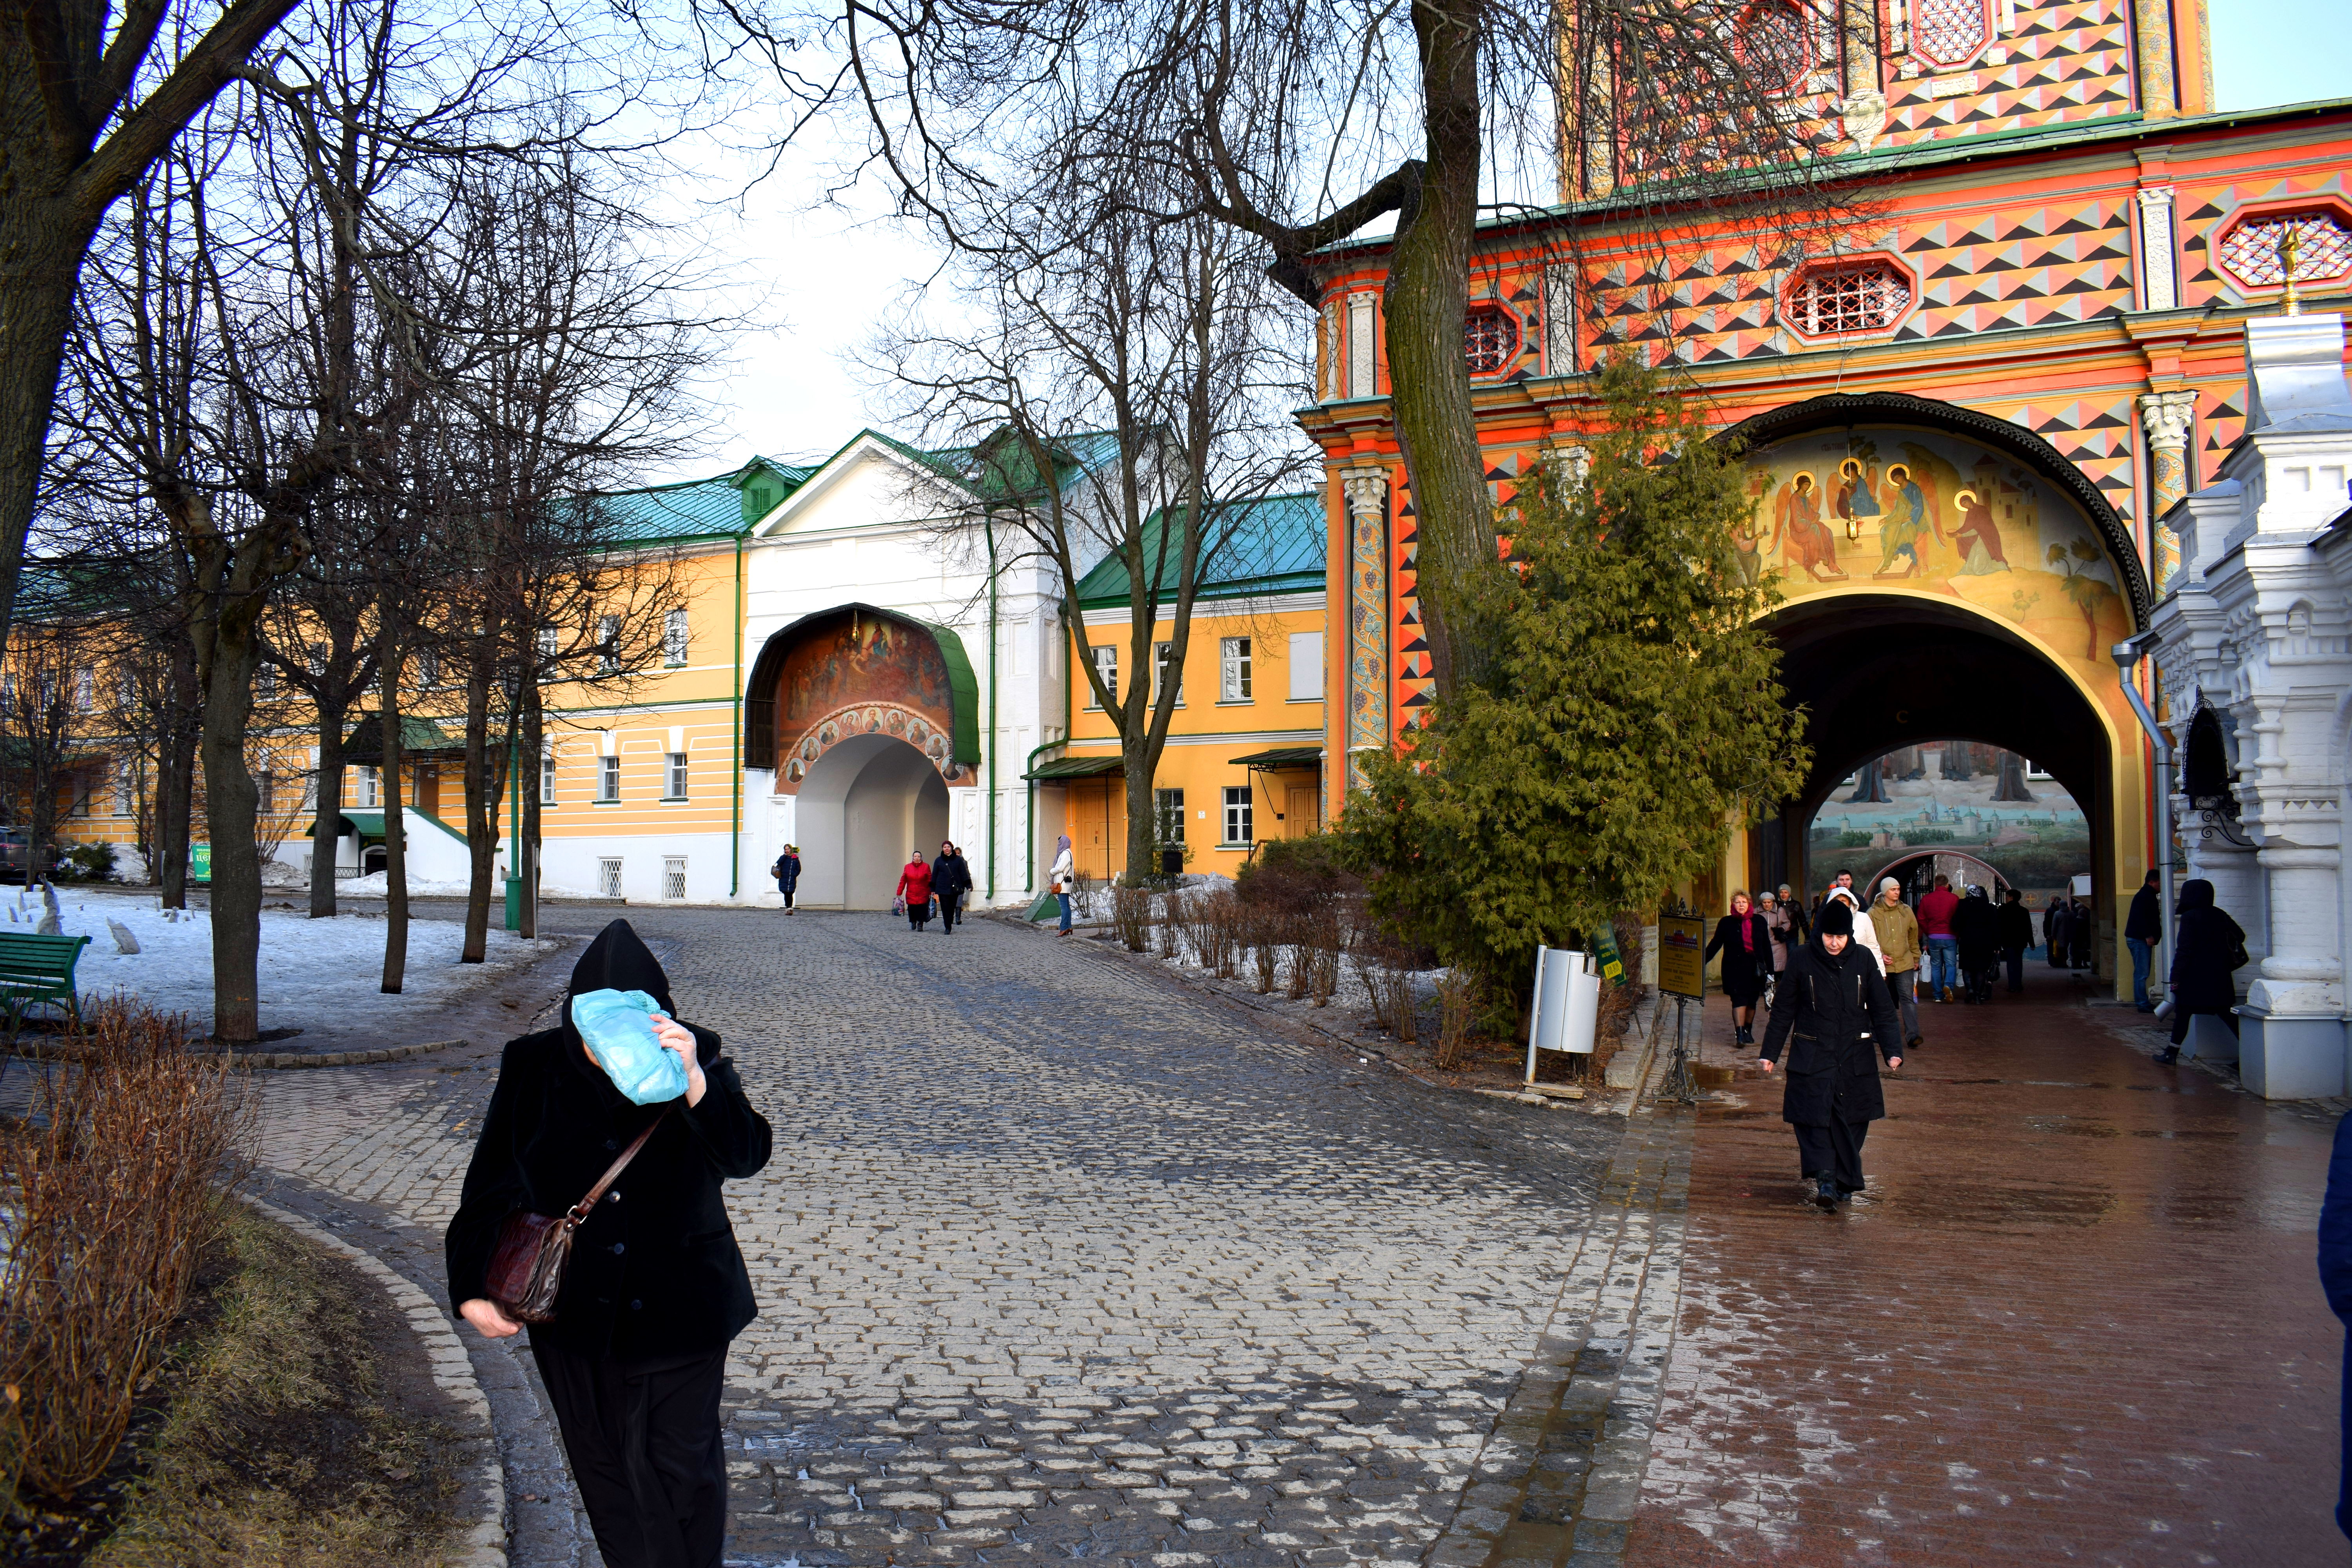
[[[1823,430],[1762,447],[1745,468],[1755,515],[1733,531],[1740,569],[1778,571],[1790,599],[1849,588],[1945,595],[2091,665],[2131,635],[2091,522],[2039,475],[1966,437]]]

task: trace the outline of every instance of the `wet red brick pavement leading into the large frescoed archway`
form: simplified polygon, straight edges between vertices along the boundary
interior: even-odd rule
[[[2161,1067],[2131,1009],[2030,969],[1922,1006],[1835,1215],[1738,1053],[1628,1563],[2347,1561],[2312,1265],[2340,1107]],[[1726,1060],[1722,999],[1708,1025]]]

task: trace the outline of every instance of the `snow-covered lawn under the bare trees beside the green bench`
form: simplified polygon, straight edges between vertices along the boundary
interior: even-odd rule
[[[19,900],[21,889],[0,893],[0,931],[31,931],[40,922],[40,889]],[[115,893],[66,886],[56,891],[66,936],[87,936],[73,971],[85,997],[129,992],[151,1006],[188,1013],[198,1032],[212,1027],[212,914],[186,910],[167,917],[153,893]],[[139,952],[118,952],[106,929],[122,922]],[[492,914],[496,922],[496,912]],[[562,943],[524,943],[492,929],[489,957],[459,964],[466,929],[449,919],[409,922],[409,966],[402,994],[386,997],[383,914],[336,914],[310,919],[299,910],[261,910],[261,1027],[263,1030],[365,1030],[400,1025],[414,1032],[421,1013],[492,985]],[[289,1044],[289,1051],[308,1041]]]

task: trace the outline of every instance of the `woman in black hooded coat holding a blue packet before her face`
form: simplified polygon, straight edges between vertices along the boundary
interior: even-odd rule
[[[572,999],[607,987],[673,1011],[668,976],[626,919],[581,954],[562,1027],[506,1046],[449,1220],[449,1300],[487,1338],[517,1333],[485,1284],[499,1222],[517,1208],[560,1215],[654,1126],[574,1234],[532,1359],[607,1568],[717,1568],[727,1342],[757,1314],[720,1182],[767,1164],[769,1131],[720,1037],[694,1025],[656,1020],[687,1065],[682,1100],[633,1105],[614,1088],[572,1025]]]

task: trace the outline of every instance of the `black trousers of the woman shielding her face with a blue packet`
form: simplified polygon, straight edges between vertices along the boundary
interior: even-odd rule
[[[604,1361],[532,1340],[604,1568],[720,1568],[727,1349]]]

